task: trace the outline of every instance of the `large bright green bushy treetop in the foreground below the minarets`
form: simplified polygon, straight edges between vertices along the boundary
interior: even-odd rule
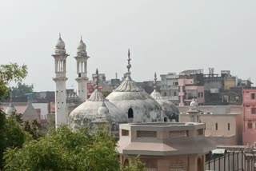
[[[7,171],[119,169],[114,138],[106,129],[90,133],[60,127],[38,141],[27,141],[22,149],[8,149],[5,162]]]

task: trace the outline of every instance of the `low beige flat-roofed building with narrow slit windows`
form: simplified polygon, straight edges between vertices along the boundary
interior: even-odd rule
[[[179,106],[179,121],[206,124],[205,136],[217,145],[242,144],[242,105]]]

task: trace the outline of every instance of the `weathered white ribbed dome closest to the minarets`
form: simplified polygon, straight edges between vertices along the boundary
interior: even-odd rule
[[[105,101],[106,108],[102,107],[102,101]],[[100,110],[100,111],[99,111]],[[104,99],[102,92],[95,89],[90,98],[74,109],[69,116],[69,125],[77,128],[81,125],[89,125],[97,118],[98,112],[106,113],[107,120],[112,123],[126,123],[127,117],[121,109],[118,109],[113,103]]]

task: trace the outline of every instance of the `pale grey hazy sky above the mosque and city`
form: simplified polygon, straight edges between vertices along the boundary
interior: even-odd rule
[[[157,74],[214,67],[256,81],[256,1],[236,0],[8,0],[0,2],[1,64],[28,66],[25,82],[54,90],[58,33],[66,42],[67,88],[75,88],[74,55],[86,42],[88,75],[126,73],[134,81]],[[159,78],[160,79],[160,78]]]

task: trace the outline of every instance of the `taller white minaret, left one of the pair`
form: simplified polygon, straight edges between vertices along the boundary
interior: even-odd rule
[[[68,112],[66,108],[66,54],[65,43],[59,34],[58,42],[55,46],[55,53],[52,55],[55,61],[55,126],[66,125]]]

